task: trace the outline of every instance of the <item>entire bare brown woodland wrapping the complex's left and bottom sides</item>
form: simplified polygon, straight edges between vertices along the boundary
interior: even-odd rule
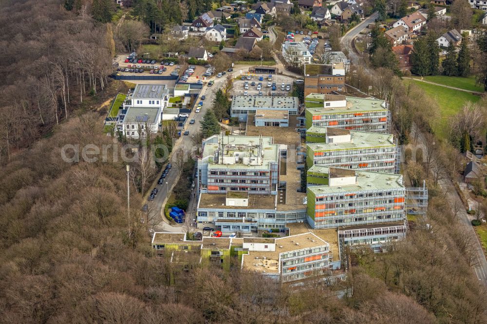
[[[60,154],[113,144],[86,104],[109,81],[111,26],[56,0],[7,1],[2,14],[0,323],[487,323],[470,242],[435,190],[428,230],[388,254],[359,251],[329,286],[155,258],[136,194],[127,216],[122,162]]]

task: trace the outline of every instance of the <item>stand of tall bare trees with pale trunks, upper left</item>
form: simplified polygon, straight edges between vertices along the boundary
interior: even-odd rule
[[[111,72],[111,25],[58,0],[4,1],[0,17],[0,163],[102,90]]]

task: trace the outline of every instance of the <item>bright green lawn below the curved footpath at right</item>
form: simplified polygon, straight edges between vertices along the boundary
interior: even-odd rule
[[[412,80],[405,80],[405,82],[414,82],[415,85],[423,89],[426,94],[436,100],[440,108],[441,121],[438,123],[435,132],[443,138],[446,138],[448,134],[448,120],[450,116],[456,114],[464,106],[465,102],[477,102],[480,100],[479,96],[465,91],[449,89],[442,86],[435,86]]]

